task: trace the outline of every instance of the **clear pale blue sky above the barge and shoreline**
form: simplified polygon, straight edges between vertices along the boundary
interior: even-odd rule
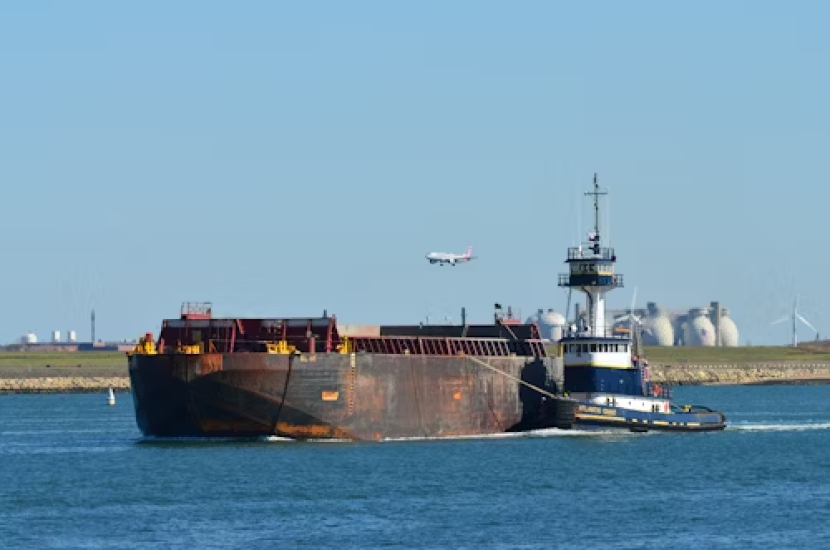
[[[625,307],[830,336],[830,3],[3,2],[0,342],[228,315],[565,307],[611,192]],[[581,201],[581,203],[580,203]],[[430,251],[479,259],[430,266]],[[826,337],[824,334],[823,337]],[[814,333],[805,327],[800,337]]]

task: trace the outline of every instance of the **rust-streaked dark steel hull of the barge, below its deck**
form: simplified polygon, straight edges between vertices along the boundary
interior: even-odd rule
[[[479,357],[549,392],[552,358]],[[573,404],[463,357],[383,354],[132,355],[147,436],[295,439],[484,435],[570,427]]]

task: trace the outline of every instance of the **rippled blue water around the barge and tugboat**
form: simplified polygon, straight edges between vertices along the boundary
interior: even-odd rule
[[[676,394],[732,426],[148,442],[127,394],[0,396],[0,547],[830,548],[830,387]]]

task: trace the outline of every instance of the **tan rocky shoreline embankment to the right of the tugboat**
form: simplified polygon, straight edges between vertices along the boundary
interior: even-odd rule
[[[652,364],[651,380],[669,386],[830,383],[830,362]]]

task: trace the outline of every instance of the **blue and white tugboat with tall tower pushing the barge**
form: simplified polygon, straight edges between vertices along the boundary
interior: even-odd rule
[[[605,294],[622,288],[615,272],[614,249],[600,237],[600,190],[594,174],[594,228],[587,243],[568,249],[569,272],[559,286],[585,294],[586,318],[575,319],[560,340],[564,366],[564,395],[576,401],[573,428],[715,431],[726,427],[726,417],[698,405],[676,405],[668,388],[652,384],[643,357],[638,327],[629,335],[613,332],[605,318]]]

